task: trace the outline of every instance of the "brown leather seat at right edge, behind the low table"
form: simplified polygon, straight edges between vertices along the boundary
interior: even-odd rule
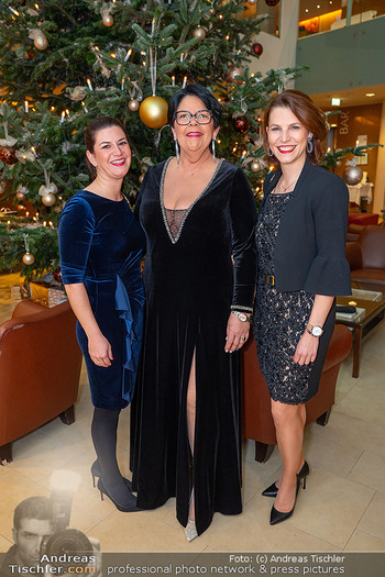
[[[383,286],[385,291],[385,226],[365,226],[358,241],[346,243],[352,281]]]

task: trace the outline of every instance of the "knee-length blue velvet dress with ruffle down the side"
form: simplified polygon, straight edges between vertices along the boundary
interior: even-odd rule
[[[112,347],[111,366],[96,365],[87,335],[77,323],[92,403],[99,409],[123,409],[134,391],[143,332],[144,233],[125,199],[113,201],[80,190],[63,210],[58,235],[63,282],[84,282],[95,318]]]

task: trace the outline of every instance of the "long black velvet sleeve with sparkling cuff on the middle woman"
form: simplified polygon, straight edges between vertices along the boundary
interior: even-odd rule
[[[256,204],[249,180],[240,168],[232,182],[230,218],[234,260],[231,309],[252,312],[256,275]]]

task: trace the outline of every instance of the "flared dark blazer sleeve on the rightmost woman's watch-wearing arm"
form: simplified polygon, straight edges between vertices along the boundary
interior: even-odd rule
[[[308,270],[304,290],[337,297],[351,293],[350,267],[345,258],[349,192],[341,178],[318,190],[312,199],[317,256]]]

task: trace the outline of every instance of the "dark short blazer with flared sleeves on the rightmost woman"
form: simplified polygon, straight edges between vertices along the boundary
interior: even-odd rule
[[[264,202],[282,171],[270,173]],[[345,258],[349,191],[344,181],[308,160],[292,192],[275,244],[275,285],[279,292],[350,295]]]

